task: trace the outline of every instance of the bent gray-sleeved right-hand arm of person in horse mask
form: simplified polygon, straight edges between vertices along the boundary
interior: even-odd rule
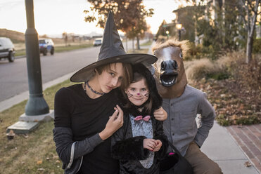
[[[207,95],[205,93],[200,95],[198,113],[201,114],[200,128],[198,128],[198,133],[196,134],[194,141],[199,147],[201,147],[205,139],[208,137],[210,128],[214,125],[214,119],[216,116],[215,109],[212,107],[210,102],[208,102]]]

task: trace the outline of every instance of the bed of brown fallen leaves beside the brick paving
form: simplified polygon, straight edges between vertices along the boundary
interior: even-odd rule
[[[208,94],[222,126],[261,123],[261,91],[242,79],[190,80],[189,84]]]

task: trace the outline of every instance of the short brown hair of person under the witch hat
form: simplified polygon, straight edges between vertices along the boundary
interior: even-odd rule
[[[116,63],[117,62],[106,64],[106,65],[101,65],[99,67],[96,67],[96,71],[98,72],[98,74],[101,74],[104,70],[109,71],[110,65],[116,66]],[[122,84],[121,84],[120,88],[127,88],[132,81],[132,65],[130,65],[129,63],[124,63],[124,62],[121,62],[121,63],[122,63],[122,67],[123,67],[123,79],[122,79]]]

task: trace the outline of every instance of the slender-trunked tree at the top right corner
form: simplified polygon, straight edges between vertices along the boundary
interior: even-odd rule
[[[243,15],[243,21],[245,23],[246,31],[248,32],[248,39],[246,44],[246,63],[248,64],[252,59],[253,40],[255,32],[255,22],[257,22],[258,7],[261,5],[261,0],[240,0],[238,7],[242,7],[241,15]],[[247,15],[247,18],[245,18]]]

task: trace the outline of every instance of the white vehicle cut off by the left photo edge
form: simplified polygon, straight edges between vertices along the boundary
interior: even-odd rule
[[[15,46],[7,37],[0,37],[0,59],[8,58],[9,62],[15,60]]]

